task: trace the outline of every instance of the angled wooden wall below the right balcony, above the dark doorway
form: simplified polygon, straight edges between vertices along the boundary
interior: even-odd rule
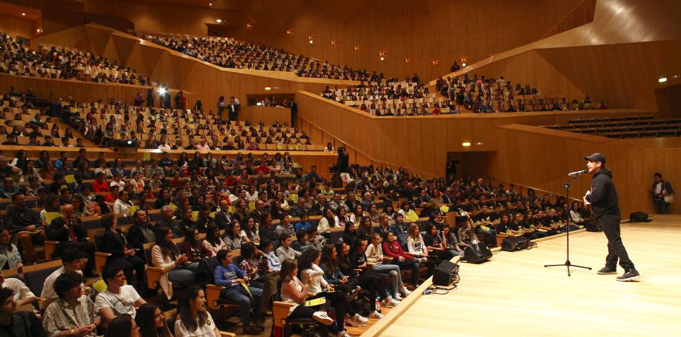
[[[391,167],[409,167],[426,177],[444,175],[448,152],[495,151],[509,140],[497,126],[565,124],[569,119],[603,115],[640,115],[642,111],[573,111],[568,113],[497,113],[439,117],[375,117],[318,95],[296,93],[299,117],[305,128],[318,128],[349,149]],[[470,142],[471,147],[462,143]],[[337,147],[337,146],[336,146]],[[350,151],[349,151],[350,152]],[[528,154],[528,159],[541,153]]]

